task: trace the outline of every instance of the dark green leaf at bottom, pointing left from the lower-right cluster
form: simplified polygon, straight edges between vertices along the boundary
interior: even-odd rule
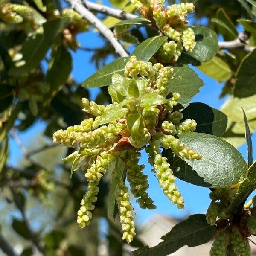
[[[165,256],[174,253],[184,245],[198,246],[209,242],[217,233],[217,228],[206,221],[206,215],[194,214],[188,219],[175,225],[172,230],[161,237],[158,245],[148,246],[134,251],[136,256]]]

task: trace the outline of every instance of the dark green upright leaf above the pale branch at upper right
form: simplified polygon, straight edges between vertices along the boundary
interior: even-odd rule
[[[236,26],[227,16],[224,9],[219,8],[217,18],[213,18],[211,21],[217,24],[218,32],[223,35],[224,40],[229,41],[237,38]]]

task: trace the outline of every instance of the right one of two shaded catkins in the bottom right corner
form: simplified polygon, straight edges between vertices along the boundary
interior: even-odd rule
[[[243,239],[236,228],[232,229],[230,234],[230,244],[233,245],[233,250],[236,256],[250,256],[251,250],[247,239]]]

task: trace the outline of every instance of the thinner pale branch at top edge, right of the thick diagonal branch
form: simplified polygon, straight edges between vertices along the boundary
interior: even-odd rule
[[[92,3],[87,0],[82,0],[82,2],[84,3],[84,6],[90,11],[104,13],[105,15],[116,17],[120,20],[129,20],[129,19],[137,18],[136,15],[122,11],[122,10],[113,9],[111,7],[104,6],[97,3]]]

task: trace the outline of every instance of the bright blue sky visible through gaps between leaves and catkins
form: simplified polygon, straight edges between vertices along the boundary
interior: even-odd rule
[[[108,4],[107,0],[104,0],[103,3]],[[94,33],[93,30],[90,32],[81,34],[78,36],[78,40],[81,44],[81,47],[101,47],[103,45],[101,38],[98,33]],[[92,75],[96,71],[96,67],[93,63],[90,62],[91,52],[86,52],[83,50],[77,50],[72,52],[73,56],[73,71],[72,76],[79,83],[84,81],[88,76]],[[111,59],[108,60],[109,62]],[[196,69],[195,69],[196,70]],[[224,103],[225,99],[219,99],[218,96],[221,93],[222,84],[218,84],[214,79],[210,79],[205,76],[200,71],[196,70],[198,76],[204,80],[204,87],[201,87],[201,92],[198,93],[193,99],[192,102],[204,102],[211,107],[220,108]],[[89,89],[91,98],[95,98],[99,89]],[[81,96],[82,97],[82,96]],[[44,131],[45,123],[38,120],[29,128],[27,131],[20,133],[20,138],[23,141],[24,145],[28,145],[28,141],[31,140],[33,136]],[[16,143],[11,139],[10,142],[11,156],[9,163],[11,165],[16,165],[17,160],[22,154],[20,148]],[[256,145],[256,136],[253,136],[253,144]],[[241,154],[246,158],[246,145],[242,145],[239,148]],[[254,159],[256,159],[256,154],[253,154]],[[177,179],[178,189],[181,191],[183,197],[185,198],[185,210],[178,210],[177,207],[172,205],[169,200],[165,197],[162,190],[159,188],[157,183],[157,178],[154,177],[153,173],[150,171],[151,166],[147,162],[147,155],[143,153],[141,158],[141,163],[145,164],[145,173],[149,175],[149,184],[150,188],[148,189],[149,195],[154,199],[157,209],[155,210],[142,210],[137,204],[134,204],[136,210],[136,219],[141,224],[153,214],[164,214],[171,215],[177,218],[184,218],[186,215],[193,213],[205,213],[209,205],[209,189],[202,188],[198,186],[185,183]]]

